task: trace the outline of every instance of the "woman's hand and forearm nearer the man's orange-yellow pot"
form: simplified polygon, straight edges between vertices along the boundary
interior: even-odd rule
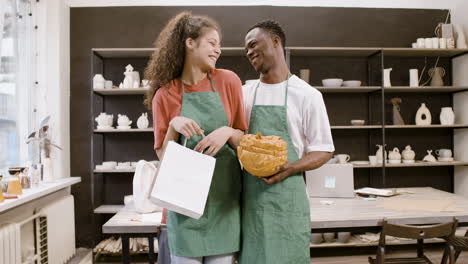
[[[206,155],[214,156],[226,144],[233,133],[233,128],[220,127],[198,142],[193,150],[199,152],[206,150],[204,152]]]

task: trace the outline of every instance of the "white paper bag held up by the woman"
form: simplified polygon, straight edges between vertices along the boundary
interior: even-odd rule
[[[195,219],[205,211],[216,159],[173,141],[166,147],[151,200]]]

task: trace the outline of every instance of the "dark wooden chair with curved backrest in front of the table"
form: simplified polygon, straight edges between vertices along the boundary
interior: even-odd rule
[[[424,255],[424,239],[429,238],[447,238],[455,234],[458,221],[454,219],[452,222],[438,225],[397,225],[389,224],[386,219],[382,221],[382,232],[380,233],[379,245],[377,247],[376,258],[369,257],[371,264],[384,263],[431,263],[431,260]],[[408,258],[385,258],[385,237],[394,236],[408,239],[416,239],[417,256]],[[453,248],[447,248],[449,254],[449,263],[453,264]]]

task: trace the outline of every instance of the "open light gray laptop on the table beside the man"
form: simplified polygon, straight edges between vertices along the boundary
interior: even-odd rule
[[[353,165],[324,164],[306,171],[306,185],[309,197],[353,198]]]

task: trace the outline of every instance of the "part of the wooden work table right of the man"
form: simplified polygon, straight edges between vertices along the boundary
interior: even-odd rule
[[[460,224],[468,224],[468,198],[436,190],[424,188],[397,188],[400,195],[393,197],[378,197],[375,201],[362,197],[343,198],[310,198],[312,230],[326,228],[359,228],[377,227],[385,217],[397,224],[432,224],[451,221],[457,217]],[[406,193],[407,191],[408,193]],[[414,200],[454,200],[460,211],[429,212],[422,210],[397,211],[380,208],[377,205],[384,199],[414,199]],[[332,204],[324,204],[331,201]]]

